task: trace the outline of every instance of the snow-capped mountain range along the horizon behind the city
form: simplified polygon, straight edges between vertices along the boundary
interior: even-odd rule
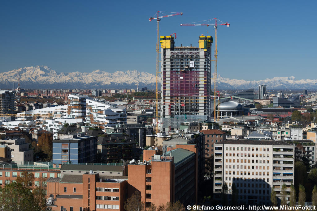
[[[17,86],[18,70],[0,73],[0,89],[12,89]],[[109,73],[95,70],[92,72],[56,72],[48,66],[24,67],[20,70],[20,86],[26,89],[102,89],[102,88],[139,88],[151,86],[154,89],[156,76],[147,72],[116,71]],[[250,89],[259,84],[268,89],[317,89],[317,79],[296,80],[294,76],[274,77],[259,81],[247,81],[224,78],[218,75],[218,89]]]

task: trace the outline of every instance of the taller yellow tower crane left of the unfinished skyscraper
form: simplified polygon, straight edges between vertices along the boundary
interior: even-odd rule
[[[158,133],[159,127],[159,22],[161,21],[161,18],[165,17],[171,17],[171,16],[177,16],[177,15],[183,15],[182,12],[178,13],[172,13],[170,15],[164,15],[159,16],[159,13],[166,14],[168,12],[162,12],[158,11],[157,14],[154,15],[154,17],[150,17],[149,21],[156,20],[156,109],[155,109],[155,133]],[[176,36],[176,35],[175,35]]]

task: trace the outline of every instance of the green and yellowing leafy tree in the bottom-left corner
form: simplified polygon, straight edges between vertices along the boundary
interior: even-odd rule
[[[2,210],[41,210],[33,194],[21,183],[10,183],[0,187],[0,204]]]

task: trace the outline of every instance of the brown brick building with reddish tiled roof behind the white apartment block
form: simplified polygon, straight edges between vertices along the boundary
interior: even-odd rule
[[[214,156],[214,144],[226,140],[226,132],[218,129],[201,130],[205,140],[205,157]]]

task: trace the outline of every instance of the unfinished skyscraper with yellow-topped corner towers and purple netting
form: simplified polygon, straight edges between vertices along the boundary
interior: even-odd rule
[[[199,47],[175,47],[172,36],[161,36],[160,43],[162,131],[210,120],[212,36],[199,36]]]

